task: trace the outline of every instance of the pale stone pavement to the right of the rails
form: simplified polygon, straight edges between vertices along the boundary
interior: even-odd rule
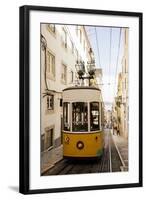
[[[121,171],[128,171],[128,139],[119,135],[112,137],[122,162]]]

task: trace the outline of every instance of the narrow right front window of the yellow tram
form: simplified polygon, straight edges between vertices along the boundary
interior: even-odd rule
[[[96,131],[100,129],[100,118],[99,118],[99,103],[90,103],[90,130]]]

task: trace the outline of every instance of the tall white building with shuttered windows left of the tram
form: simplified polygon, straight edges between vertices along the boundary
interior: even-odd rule
[[[76,61],[90,59],[85,28],[41,24],[41,152],[61,145],[62,90],[79,82]],[[81,83],[78,83],[81,84]]]

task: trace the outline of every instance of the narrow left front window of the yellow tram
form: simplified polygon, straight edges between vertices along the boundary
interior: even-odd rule
[[[69,109],[70,103],[64,102],[63,103],[63,124],[64,124],[64,130],[70,131],[70,120],[69,120]]]

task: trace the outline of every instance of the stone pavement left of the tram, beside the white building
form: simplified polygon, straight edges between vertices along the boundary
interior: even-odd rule
[[[41,153],[41,174],[63,159],[63,145]]]

